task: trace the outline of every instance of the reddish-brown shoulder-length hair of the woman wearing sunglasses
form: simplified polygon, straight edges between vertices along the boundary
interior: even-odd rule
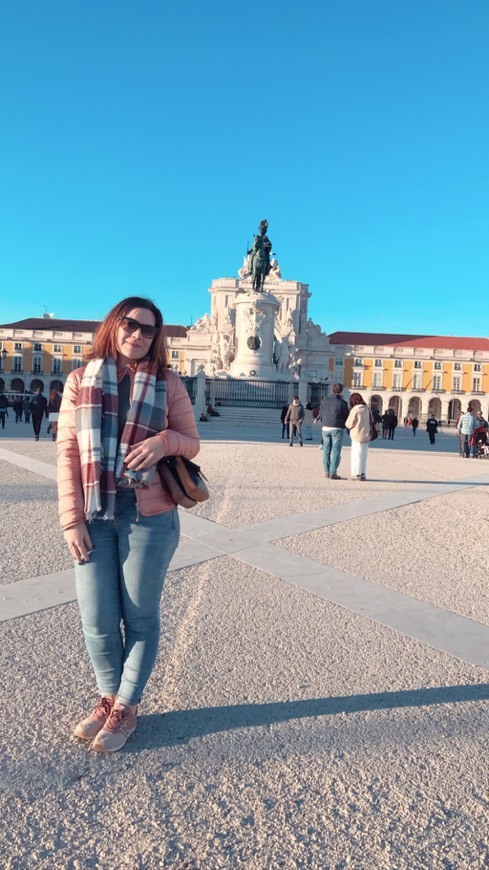
[[[123,299],[111,308],[97,329],[92,349],[87,354],[86,359],[105,359],[108,356],[114,357],[114,359],[117,358],[117,330],[121,319],[133,308],[147,308],[154,315],[155,326],[158,327],[159,332],[151,342],[151,347],[145,359],[157,363],[161,369],[166,369],[168,354],[166,336],[163,329],[163,315],[151,299],[146,299],[143,296],[128,296],[127,299]]]

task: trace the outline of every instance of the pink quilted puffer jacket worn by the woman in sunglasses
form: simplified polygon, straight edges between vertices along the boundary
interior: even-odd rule
[[[59,517],[63,531],[85,522],[80,453],[75,428],[75,407],[84,368],[68,375],[58,423],[58,495]],[[128,367],[131,378],[134,373]],[[124,370],[121,377],[126,373]],[[179,376],[167,369],[167,417],[160,437],[165,444],[165,456],[185,456],[193,459],[200,448],[199,433],[187,390]],[[138,511],[145,517],[172,510],[170,493],[155,474],[149,489],[136,489]]]

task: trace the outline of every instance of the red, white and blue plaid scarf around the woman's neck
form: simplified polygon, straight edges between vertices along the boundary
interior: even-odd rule
[[[75,408],[75,426],[81,460],[84,510],[88,521],[114,518],[118,487],[151,485],[156,465],[144,471],[125,466],[130,448],[165,427],[166,382],[157,380],[153,367],[140,364],[134,376],[131,404],[118,443],[119,394],[115,359],[88,363]]]

